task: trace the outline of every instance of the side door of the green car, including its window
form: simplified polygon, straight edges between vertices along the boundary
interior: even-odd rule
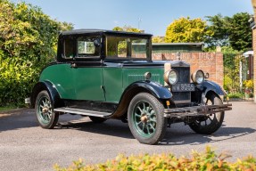
[[[97,40],[97,36],[77,38],[77,55],[71,64],[76,100],[105,101],[100,45],[95,44]]]

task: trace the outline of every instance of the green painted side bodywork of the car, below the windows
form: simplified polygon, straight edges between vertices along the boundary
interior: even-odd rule
[[[153,74],[153,82],[164,85],[162,66],[70,68],[69,63],[45,68],[39,81],[50,81],[62,99],[119,103],[128,85],[145,80],[145,72]]]

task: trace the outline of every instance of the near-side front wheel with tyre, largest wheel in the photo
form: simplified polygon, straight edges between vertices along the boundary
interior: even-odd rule
[[[128,126],[141,143],[156,144],[163,138],[167,120],[163,117],[164,107],[152,94],[140,93],[128,106]]]

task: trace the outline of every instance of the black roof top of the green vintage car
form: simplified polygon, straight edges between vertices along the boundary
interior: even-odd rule
[[[114,35],[127,35],[127,36],[144,36],[144,37],[152,37],[151,34],[146,33],[135,33],[135,32],[125,32],[125,31],[113,31],[107,29],[72,29],[70,31],[62,31],[61,36],[67,35],[82,35],[82,34],[95,34],[95,33],[106,33],[106,34],[114,34]]]

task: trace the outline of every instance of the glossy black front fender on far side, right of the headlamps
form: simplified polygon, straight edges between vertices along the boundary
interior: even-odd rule
[[[202,93],[206,95],[210,91],[214,92],[215,94],[218,94],[219,97],[223,97],[224,95],[226,95],[226,93],[222,90],[220,85],[212,81],[206,80],[202,83]]]

